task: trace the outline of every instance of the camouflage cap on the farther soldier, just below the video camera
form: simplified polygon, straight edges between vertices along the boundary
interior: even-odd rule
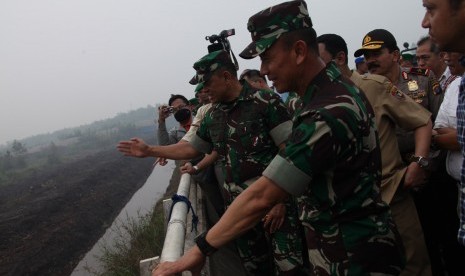
[[[225,50],[211,52],[194,63],[195,76],[189,81],[190,84],[200,84],[206,82],[213,72],[223,65],[234,66],[231,56]],[[197,91],[196,91],[197,92]]]

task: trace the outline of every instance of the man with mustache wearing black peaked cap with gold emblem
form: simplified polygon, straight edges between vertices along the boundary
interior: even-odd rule
[[[356,57],[360,55],[365,56],[370,73],[383,75],[388,78],[399,90],[403,91],[419,105],[430,111],[432,114],[431,120],[435,120],[443,98],[442,89],[438,81],[429,69],[416,67],[404,68],[400,66],[400,52],[397,41],[389,31],[375,29],[366,34],[362,41],[362,47],[354,53]],[[435,269],[435,267],[441,264],[440,253],[435,246],[438,237],[434,235],[436,226],[434,214],[437,213],[435,208],[437,204],[440,205],[434,191],[436,187],[439,187],[437,185],[440,184],[440,181],[435,180],[435,174],[437,173],[438,165],[444,162],[444,158],[439,158],[441,157],[439,151],[431,151],[427,156],[415,155],[414,133],[412,131],[405,131],[401,128],[397,128],[396,132],[399,151],[404,164],[410,166],[413,163],[417,163],[425,173],[424,186],[420,189],[411,189],[410,192],[412,192],[412,196],[415,200],[428,250],[425,250],[423,247],[410,248],[412,249],[410,250],[408,246],[409,242],[406,242],[405,239],[406,234],[403,234],[404,243],[407,243],[407,258],[409,259],[409,256],[412,258],[415,258],[415,256],[423,256],[421,259],[424,260],[421,262],[413,262],[413,264],[417,263],[417,265],[411,268],[409,268],[409,263],[411,262],[407,261],[406,270],[412,269],[411,271],[417,272],[423,269],[430,270],[430,262],[428,259],[432,259],[432,268]],[[411,222],[408,220],[403,221],[407,224]],[[400,227],[400,229],[402,228],[403,227]],[[408,240],[415,241],[418,239],[418,235],[412,232],[409,233],[410,238]],[[409,253],[409,251],[411,253]],[[424,256],[424,254],[429,254],[429,257]],[[419,273],[418,275],[424,274]]]

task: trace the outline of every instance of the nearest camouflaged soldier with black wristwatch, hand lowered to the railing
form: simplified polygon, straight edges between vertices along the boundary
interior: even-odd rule
[[[399,274],[402,246],[380,196],[379,141],[366,98],[319,58],[304,1],[267,8],[249,19],[248,29],[253,42],[240,56],[260,55],[261,73],[278,92],[295,91],[302,99],[291,138],[196,247],[153,275],[197,272],[201,252],[246,231],[289,195],[298,197],[312,275]]]

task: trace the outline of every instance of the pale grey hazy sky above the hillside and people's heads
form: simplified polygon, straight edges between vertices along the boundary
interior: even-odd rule
[[[259,60],[238,54],[250,42],[247,20],[282,1],[0,1],[0,144],[88,124],[118,113],[188,98],[205,36],[231,36],[241,72]],[[308,0],[317,34],[337,33],[349,52],[385,28],[399,47],[427,31],[420,0]],[[351,54],[350,54],[351,55]],[[353,67],[353,58],[350,59]]]

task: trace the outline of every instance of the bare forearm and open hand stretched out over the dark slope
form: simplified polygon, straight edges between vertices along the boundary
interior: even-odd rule
[[[192,159],[201,154],[189,143],[177,143],[167,146],[149,146],[144,140],[132,138],[118,143],[117,149],[126,156],[164,157],[173,160]]]

